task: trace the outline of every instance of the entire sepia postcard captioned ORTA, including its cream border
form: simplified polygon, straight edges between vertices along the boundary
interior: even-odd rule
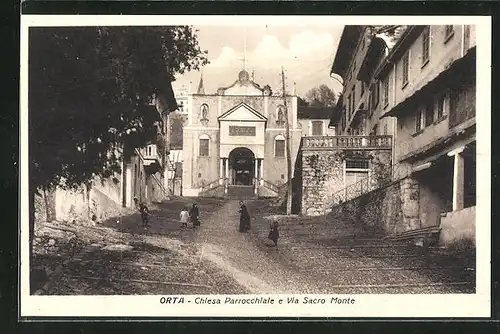
[[[487,16],[23,15],[21,316],[489,317],[490,54]]]

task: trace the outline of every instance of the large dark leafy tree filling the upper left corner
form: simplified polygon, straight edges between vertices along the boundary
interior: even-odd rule
[[[189,26],[29,34],[31,201],[37,189],[74,188],[120,171],[116,149],[126,154],[154,136],[153,94],[168,89],[176,73],[208,62]],[[33,217],[30,223],[32,241]]]

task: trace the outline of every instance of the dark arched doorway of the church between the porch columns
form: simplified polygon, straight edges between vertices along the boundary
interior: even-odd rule
[[[254,182],[255,155],[246,147],[229,153],[230,184],[250,186]]]

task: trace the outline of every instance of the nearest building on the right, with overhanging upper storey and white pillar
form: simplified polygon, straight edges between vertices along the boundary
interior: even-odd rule
[[[411,228],[475,240],[475,26],[411,26],[403,37],[379,71],[394,78],[398,103],[382,118],[397,119],[395,160],[416,194]]]

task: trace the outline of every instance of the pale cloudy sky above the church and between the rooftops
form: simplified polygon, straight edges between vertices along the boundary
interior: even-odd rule
[[[305,97],[307,91],[326,84],[335,92],[342,87],[330,78],[343,26],[195,26],[202,50],[207,50],[209,65],[202,69],[205,93],[215,94],[217,88],[230,86],[243,69],[261,86],[270,85],[281,91],[281,67],[285,70],[287,91],[292,92],[295,82],[297,95]],[[245,38],[246,37],[246,38]],[[246,45],[246,47],[245,47]],[[246,50],[246,57],[245,55]],[[174,88],[187,88],[192,82],[196,90],[199,71],[178,76]]]

